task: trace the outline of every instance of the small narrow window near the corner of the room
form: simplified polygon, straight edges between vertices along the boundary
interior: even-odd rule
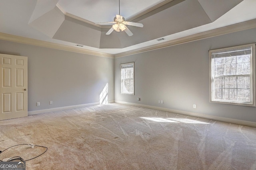
[[[134,63],[121,64],[121,94],[134,95]]]

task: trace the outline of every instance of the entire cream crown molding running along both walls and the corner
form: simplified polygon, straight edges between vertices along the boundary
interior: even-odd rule
[[[98,51],[92,51],[92,50],[88,50],[88,49],[82,49],[82,48],[78,48],[78,47],[61,45],[61,44],[57,44],[57,43],[51,43],[51,42],[42,41],[42,40],[30,39],[30,38],[20,37],[17,35],[10,35],[10,34],[6,34],[6,33],[0,33],[0,39],[6,40],[6,41],[18,42],[18,43],[25,43],[25,44],[30,44],[30,45],[37,45],[37,46],[41,46],[41,47],[48,47],[48,48],[53,48],[53,49],[72,51],[72,52],[76,52],[76,53],[96,55],[96,56],[100,56],[100,57],[119,58],[119,57],[124,57],[124,56],[128,56],[128,55],[144,53],[146,51],[152,51],[152,50],[156,50],[156,49],[161,49],[161,48],[166,48],[166,47],[170,47],[170,46],[174,46],[174,45],[188,43],[188,42],[192,42],[192,41],[198,41],[200,39],[206,39],[206,38],[216,37],[216,36],[224,35],[224,34],[228,34],[228,33],[234,33],[237,31],[243,31],[246,29],[252,29],[255,27],[256,27],[256,19],[250,20],[250,21],[245,21],[242,23],[237,23],[234,25],[229,25],[226,27],[221,27],[218,29],[213,29],[210,31],[205,31],[202,33],[197,33],[194,35],[189,35],[186,37],[181,37],[178,39],[173,39],[170,41],[158,43],[156,45],[151,45],[148,47],[142,47],[139,49],[126,51],[124,53],[118,53],[116,55],[102,53],[102,52],[98,52]]]

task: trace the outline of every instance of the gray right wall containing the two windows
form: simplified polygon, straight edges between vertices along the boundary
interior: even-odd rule
[[[256,122],[256,107],[209,102],[209,49],[256,42],[256,29],[115,59],[115,100]],[[120,64],[135,62],[135,96],[120,94]],[[137,101],[137,98],[141,101]],[[163,100],[164,104],[158,104]],[[196,104],[197,108],[193,108]]]

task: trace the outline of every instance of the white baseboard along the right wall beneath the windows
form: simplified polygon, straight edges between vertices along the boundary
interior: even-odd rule
[[[204,118],[204,119],[211,119],[211,120],[223,121],[223,122],[227,122],[227,123],[234,123],[234,124],[238,124],[238,125],[256,127],[256,122],[252,122],[252,121],[244,121],[244,120],[238,120],[238,119],[230,119],[230,118],[226,118],[226,117],[204,115],[204,114],[192,113],[192,112],[188,112],[188,111],[167,109],[167,108],[163,108],[163,107],[148,106],[148,105],[135,104],[135,103],[129,103],[129,102],[121,102],[121,101],[117,101],[117,100],[115,100],[114,102],[118,103],[118,104],[126,104],[126,105],[131,105],[131,106],[145,107],[148,109],[168,111],[168,112],[178,113],[178,114],[182,114],[182,115],[188,115],[188,116],[200,117],[200,118]]]

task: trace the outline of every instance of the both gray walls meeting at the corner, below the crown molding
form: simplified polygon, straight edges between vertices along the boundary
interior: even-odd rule
[[[208,49],[255,42],[249,29],[117,59],[3,40],[0,53],[28,57],[28,111],[99,102],[108,83],[109,101],[256,122],[256,107],[209,103],[208,57]],[[120,64],[128,62],[135,62],[135,96],[120,94]]]

